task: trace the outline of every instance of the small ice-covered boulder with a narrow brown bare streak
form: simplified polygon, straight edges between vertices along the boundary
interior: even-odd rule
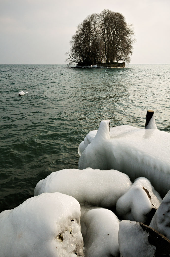
[[[151,182],[144,177],[135,179],[130,189],[116,203],[116,212],[122,219],[150,224],[162,198]]]

